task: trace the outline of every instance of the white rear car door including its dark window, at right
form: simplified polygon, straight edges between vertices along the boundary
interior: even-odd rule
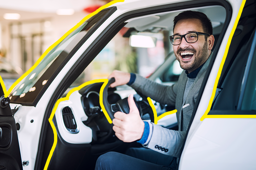
[[[248,13],[250,8],[254,10]],[[246,1],[209,104],[211,109],[203,112],[208,105],[203,101],[208,98],[204,92],[179,169],[256,168],[256,27],[252,13],[255,2]]]

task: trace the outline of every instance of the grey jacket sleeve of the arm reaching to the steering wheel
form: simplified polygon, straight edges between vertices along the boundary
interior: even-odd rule
[[[175,106],[178,87],[176,84],[172,86],[161,85],[136,74],[136,79],[131,87],[161,104]]]

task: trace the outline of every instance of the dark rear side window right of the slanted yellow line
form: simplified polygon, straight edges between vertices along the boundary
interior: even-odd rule
[[[227,58],[223,65],[223,69],[217,86],[217,91],[215,94],[215,100],[212,103],[212,112],[209,112],[209,115],[241,114],[241,112],[218,112],[220,110],[255,110],[255,107],[251,107],[251,105],[253,105],[253,102],[255,101],[253,100],[255,89],[252,89],[252,86],[255,87],[254,83],[252,83],[253,81],[255,81],[255,78],[251,77],[250,79],[250,101],[249,99],[247,100],[246,96],[244,96],[245,86],[247,83],[246,81],[248,80],[247,72],[250,71],[250,69],[253,71],[253,69],[255,68],[253,67],[254,63],[252,62],[252,58],[248,58],[249,53],[252,53],[253,49],[255,48],[255,45],[253,46],[252,42],[254,40],[255,34],[256,13],[255,5],[253,6],[252,3],[254,2],[246,1],[245,3],[244,10],[241,14],[241,18],[238,22],[228,50]],[[253,61],[255,61],[255,59]],[[250,71],[250,74],[252,74],[252,71]],[[247,102],[243,102],[242,106],[243,99],[247,100]]]

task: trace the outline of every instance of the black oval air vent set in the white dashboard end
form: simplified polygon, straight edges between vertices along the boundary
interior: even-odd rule
[[[70,107],[64,107],[62,109],[63,122],[65,127],[70,133],[78,133],[76,120]]]

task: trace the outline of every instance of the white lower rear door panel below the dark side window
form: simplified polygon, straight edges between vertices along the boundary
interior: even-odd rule
[[[219,112],[236,114],[236,111]],[[243,111],[243,114],[252,112],[256,114],[256,111]],[[255,130],[256,119],[252,118],[204,119],[187,141],[179,169],[256,169]]]

